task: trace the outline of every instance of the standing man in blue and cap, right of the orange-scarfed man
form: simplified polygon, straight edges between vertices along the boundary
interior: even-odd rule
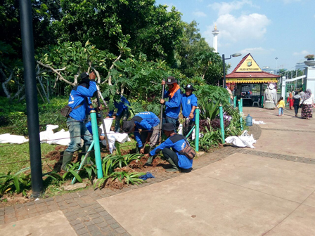
[[[181,98],[181,112],[184,116],[184,124],[183,124],[183,135],[186,135],[193,128],[193,123],[195,122],[195,107],[197,107],[197,97],[193,94],[193,85],[187,84],[184,88],[185,94],[183,94],[183,98]]]

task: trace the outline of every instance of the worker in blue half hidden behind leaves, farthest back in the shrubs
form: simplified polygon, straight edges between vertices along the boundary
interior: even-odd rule
[[[108,113],[108,117],[106,118],[110,118],[110,117],[115,118],[115,132],[120,132],[120,120],[122,119],[123,122],[127,121],[129,117],[128,106],[130,106],[130,103],[127,100],[127,98],[125,98],[124,96],[120,96],[120,101],[118,103],[117,101],[114,101],[114,106],[117,109],[116,114],[113,115],[114,110],[111,110]]]

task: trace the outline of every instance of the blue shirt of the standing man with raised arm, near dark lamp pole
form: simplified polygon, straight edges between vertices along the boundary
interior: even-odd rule
[[[89,114],[91,108],[89,108],[90,97],[93,97],[96,92],[96,81],[90,80],[89,89],[86,87],[77,85],[75,86],[69,96],[68,105],[72,108],[72,112],[70,112],[70,117],[76,120],[84,120],[86,119],[86,114]],[[77,105],[82,104],[80,107]],[[77,107],[77,109],[75,109]]]

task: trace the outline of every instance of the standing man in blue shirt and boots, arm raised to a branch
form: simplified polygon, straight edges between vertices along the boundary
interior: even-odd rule
[[[70,144],[63,153],[63,164],[61,169],[66,170],[67,164],[71,162],[73,153],[79,149],[82,152],[88,150],[91,145],[92,137],[88,129],[86,129],[86,115],[89,114],[89,98],[93,97],[96,92],[96,75],[94,72],[87,74],[86,72],[80,75],[81,81],[75,86],[69,96],[68,105],[72,108],[67,119],[67,126],[70,132]],[[81,138],[84,140],[84,145],[81,147]]]

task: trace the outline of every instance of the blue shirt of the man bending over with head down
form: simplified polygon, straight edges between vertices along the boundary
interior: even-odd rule
[[[138,147],[142,147],[143,143],[141,142],[139,129],[146,130],[145,132],[152,132],[153,127],[160,124],[160,119],[153,112],[140,112],[132,117],[132,120],[134,121],[134,124],[136,124],[136,128],[134,129],[134,138],[136,138]]]

